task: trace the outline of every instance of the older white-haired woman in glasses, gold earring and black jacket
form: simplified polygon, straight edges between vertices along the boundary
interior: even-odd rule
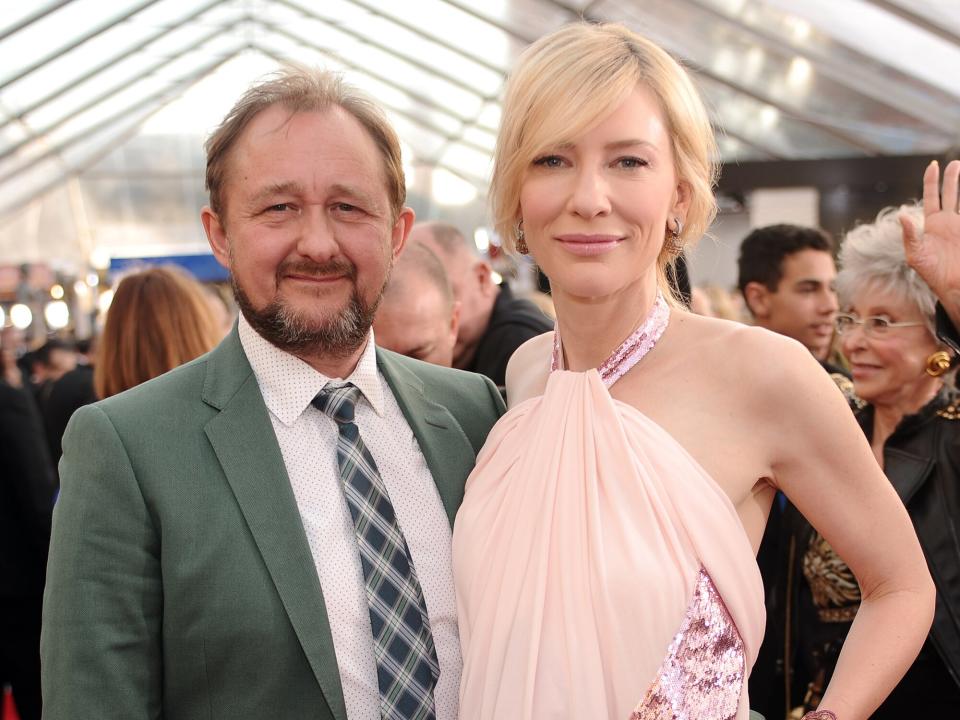
[[[881,719],[948,717],[960,708],[960,408],[947,380],[951,354],[934,332],[936,298],[907,264],[903,226],[922,234],[919,206],[888,208],[850,232],[837,277],[841,348],[867,403],[857,418],[907,507],[937,586],[930,635],[872,716]],[[810,608],[815,619],[801,620],[801,661],[829,677],[859,588],[818,534],[803,552],[801,613]]]

